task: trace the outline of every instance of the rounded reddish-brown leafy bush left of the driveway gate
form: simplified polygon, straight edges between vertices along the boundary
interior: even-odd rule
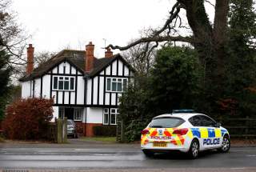
[[[53,118],[53,99],[20,99],[6,108],[2,129],[10,139],[43,139]]]

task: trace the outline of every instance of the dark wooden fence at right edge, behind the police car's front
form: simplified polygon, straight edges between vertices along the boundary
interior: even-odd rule
[[[256,118],[218,118],[232,138],[256,138]]]

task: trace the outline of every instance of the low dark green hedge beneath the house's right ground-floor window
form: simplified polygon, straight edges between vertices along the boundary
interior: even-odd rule
[[[117,133],[117,126],[94,126],[93,132],[95,136],[114,137]]]

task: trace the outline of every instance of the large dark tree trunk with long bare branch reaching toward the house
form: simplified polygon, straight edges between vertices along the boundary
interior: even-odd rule
[[[206,13],[205,3],[214,6],[213,24]],[[106,48],[127,50],[140,43],[153,42],[157,46],[159,42],[188,42],[198,50],[200,62],[202,66],[205,66],[206,78],[216,83],[217,86],[222,86],[229,5],[230,0],[216,0],[215,4],[210,0],[176,0],[174,6],[171,7],[169,18],[160,29],[150,30],[150,34],[142,36],[127,46],[110,44]],[[181,18],[182,10],[186,12],[186,18]],[[186,22],[192,31],[192,34],[188,36],[179,32],[187,28]]]

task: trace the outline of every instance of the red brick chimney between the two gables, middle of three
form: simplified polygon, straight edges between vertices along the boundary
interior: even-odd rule
[[[86,72],[90,72],[94,68],[94,45],[92,42],[89,42],[86,45],[86,55],[85,55],[85,62],[86,62]]]

